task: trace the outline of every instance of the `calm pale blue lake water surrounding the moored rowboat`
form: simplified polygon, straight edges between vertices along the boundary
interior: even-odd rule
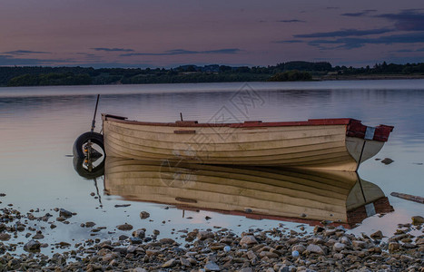
[[[104,177],[87,180],[74,171],[72,146],[89,131],[95,98],[101,94],[98,112],[141,121],[302,121],[309,118],[350,117],[364,124],[395,126],[389,141],[375,158],[390,158],[385,165],[367,160],[359,174],[384,192],[394,211],[372,216],[350,231],[371,233],[381,229],[391,235],[398,223],[424,216],[423,205],[390,196],[393,191],[424,196],[424,81],[355,81],[317,83],[204,83],[163,85],[112,85],[23,87],[0,89],[0,209],[26,213],[39,209],[57,217],[53,208],[77,215],[64,226],[49,231],[51,241],[90,237],[80,224],[94,221],[107,227],[96,236],[130,223],[134,228],[161,231],[160,237],[179,238],[173,228],[275,228],[279,223],[296,229],[300,223],[247,219],[212,211],[176,209],[170,205],[130,201],[104,193]],[[101,119],[97,115],[96,131]],[[107,188],[106,188],[107,189]],[[94,192],[94,196],[91,193]],[[131,204],[116,208],[115,205]],[[140,219],[141,211],[151,214]],[[210,217],[212,219],[205,219]],[[33,222],[35,228],[42,223]],[[180,238],[182,240],[182,238]]]

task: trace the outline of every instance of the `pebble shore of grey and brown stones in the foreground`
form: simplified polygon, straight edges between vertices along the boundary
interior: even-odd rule
[[[183,240],[177,242],[157,238],[158,230],[147,235],[145,228],[122,224],[116,226],[121,232],[110,239],[49,245],[43,241],[49,228],[35,229],[29,222],[44,222],[53,229],[75,215],[57,208],[52,213],[35,217],[31,211],[0,209],[0,271],[424,271],[424,219],[419,216],[399,224],[389,238],[381,231],[354,236],[342,227],[316,226],[307,232],[281,224],[246,229],[241,235],[219,227],[175,230]],[[140,216],[149,215],[143,211]],[[104,229],[94,222],[81,223],[81,228],[92,233]],[[25,242],[10,243],[19,237]],[[25,253],[16,254],[17,248]],[[46,255],[43,248],[57,252]]]

